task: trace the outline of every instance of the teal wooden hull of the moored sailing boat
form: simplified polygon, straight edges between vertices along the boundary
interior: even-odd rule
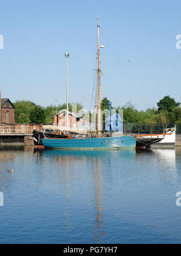
[[[135,136],[84,138],[84,139],[42,139],[47,148],[53,149],[85,149],[85,148],[124,148],[136,147]]]

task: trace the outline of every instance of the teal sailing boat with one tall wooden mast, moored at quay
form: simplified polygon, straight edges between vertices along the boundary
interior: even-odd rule
[[[121,149],[129,147],[135,149],[135,136],[101,136],[101,69],[100,69],[100,37],[99,37],[99,21],[97,19],[97,35],[98,35],[98,136],[95,138],[43,138],[42,143],[48,148],[58,149],[91,149],[91,148],[116,148]],[[68,120],[68,115],[67,115]]]

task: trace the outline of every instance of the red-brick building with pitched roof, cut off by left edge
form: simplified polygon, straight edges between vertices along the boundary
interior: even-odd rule
[[[0,124],[14,124],[14,105],[9,98],[1,98],[0,91]]]

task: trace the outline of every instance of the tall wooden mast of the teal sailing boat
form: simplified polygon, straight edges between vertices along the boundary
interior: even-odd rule
[[[98,38],[98,136],[101,136],[101,68],[100,68],[100,34],[99,34],[99,20],[97,18],[97,38]]]

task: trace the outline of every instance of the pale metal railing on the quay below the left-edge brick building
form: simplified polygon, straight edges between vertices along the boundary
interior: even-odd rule
[[[0,134],[30,134],[33,132],[33,126],[0,126]]]

